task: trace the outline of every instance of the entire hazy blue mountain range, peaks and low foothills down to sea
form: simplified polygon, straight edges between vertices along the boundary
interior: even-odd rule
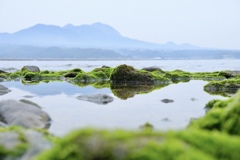
[[[0,60],[226,58],[240,59],[240,51],[140,41],[102,23],[63,27],[37,24],[15,33],[0,33]]]

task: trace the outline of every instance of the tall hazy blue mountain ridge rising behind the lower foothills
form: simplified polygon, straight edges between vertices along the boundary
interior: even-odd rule
[[[20,45],[35,47],[69,47],[69,48],[102,48],[102,49],[161,49],[187,50],[199,47],[173,42],[160,45],[122,36],[113,27],[94,23],[92,25],[74,26],[72,24],[59,27],[55,25],[37,24],[13,34],[0,33],[1,46]]]

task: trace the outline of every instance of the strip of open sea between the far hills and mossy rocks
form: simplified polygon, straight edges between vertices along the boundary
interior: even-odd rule
[[[156,66],[167,71],[181,69],[189,72],[205,72],[239,70],[240,60],[0,61],[0,70],[14,71],[21,69],[24,65],[37,65],[41,70],[56,71],[81,68],[85,71],[91,71],[103,65],[116,67],[120,64],[128,64],[138,69]]]

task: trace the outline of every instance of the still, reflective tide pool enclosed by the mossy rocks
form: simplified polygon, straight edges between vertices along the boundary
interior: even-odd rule
[[[21,82],[2,82],[10,93],[4,99],[28,99],[43,107],[52,123],[49,131],[64,135],[82,127],[139,129],[146,122],[157,130],[183,129],[190,119],[205,114],[204,106],[211,99],[223,99],[203,91],[207,82],[190,81],[171,84],[148,94],[137,94],[122,100],[109,88],[78,87],[67,82],[23,85]],[[106,105],[78,100],[79,95],[107,94],[114,101]],[[163,103],[162,99],[174,100]]]

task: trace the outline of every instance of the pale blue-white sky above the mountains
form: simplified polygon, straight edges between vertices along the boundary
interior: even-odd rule
[[[0,0],[0,32],[101,22],[123,36],[240,50],[240,0]]]

